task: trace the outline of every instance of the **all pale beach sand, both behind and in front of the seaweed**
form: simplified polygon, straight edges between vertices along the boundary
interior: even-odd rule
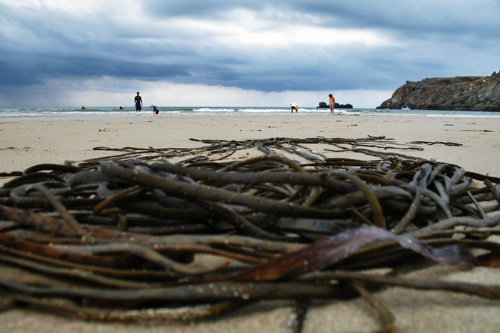
[[[94,147],[198,147],[196,139],[272,137],[362,138],[385,136],[422,144],[409,155],[459,165],[500,177],[500,117],[397,117],[284,115],[168,115],[96,118],[0,119],[0,172],[22,171],[39,163],[63,163],[116,154]],[[340,156],[339,156],[340,157]],[[240,158],[240,156],[234,156]],[[0,181],[4,181],[0,179]],[[435,266],[414,277],[500,286],[498,269],[465,271]],[[413,275],[410,275],[413,276]],[[396,332],[491,332],[500,325],[499,301],[457,293],[393,288],[377,294],[396,317]],[[265,302],[214,319],[194,322],[84,322],[33,310],[0,313],[0,331],[9,332],[285,332],[290,303]],[[370,332],[379,327],[363,300],[315,302],[304,332]]]

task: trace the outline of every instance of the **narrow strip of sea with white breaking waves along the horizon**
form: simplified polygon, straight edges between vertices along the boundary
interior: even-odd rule
[[[231,114],[286,114],[290,113],[288,107],[162,107],[159,116],[174,114],[184,115],[231,115]],[[299,107],[296,115],[327,114],[329,109],[316,107]],[[500,117],[500,112],[487,111],[436,111],[436,110],[377,110],[371,108],[335,109],[335,114],[340,115],[382,115],[382,116],[423,116],[423,117]],[[0,118],[36,118],[36,117],[141,117],[153,115],[153,107],[143,107],[141,112],[136,112],[134,107],[89,107],[80,108],[0,108]]]

